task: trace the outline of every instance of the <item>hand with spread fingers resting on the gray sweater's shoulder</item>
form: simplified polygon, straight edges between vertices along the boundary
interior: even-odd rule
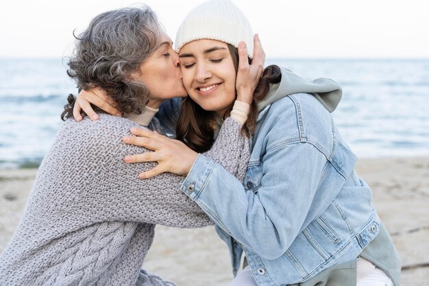
[[[131,133],[136,136],[125,136],[123,142],[131,145],[145,147],[154,152],[146,152],[134,156],[126,156],[126,163],[158,162],[158,165],[149,171],[139,174],[139,178],[151,178],[158,174],[170,172],[186,176],[198,156],[181,141],[169,139],[142,128],[132,128]]]

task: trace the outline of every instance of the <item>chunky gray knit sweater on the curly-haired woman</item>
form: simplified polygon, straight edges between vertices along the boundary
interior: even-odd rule
[[[135,126],[110,115],[63,124],[1,254],[0,285],[173,285],[140,272],[154,225],[196,228],[212,222],[180,191],[183,177],[140,180],[138,173],[156,164],[123,162],[125,155],[149,152],[122,143]],[[205,155],[243,180],[249,142],[240,129],[226,119]]]

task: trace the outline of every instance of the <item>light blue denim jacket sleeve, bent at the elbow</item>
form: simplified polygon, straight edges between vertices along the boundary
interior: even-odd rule
[[[200,155],[182,182],[182,191],[225,233],[260,257],[276,259],[302,230],[326,157],[310,143],[273,142],[261,164],[262,180],[252,191]],[[296,176],[303,180],[294,180]]]

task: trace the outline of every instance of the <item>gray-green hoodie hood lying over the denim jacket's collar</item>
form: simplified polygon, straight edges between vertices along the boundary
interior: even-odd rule
[[[292,95],[294,93],[310,93],[332,112],[338,106],[343,91],[341,86],[329,78],[317,78],[316,80],[306,80],[293,73],[289,69],[280,67],[282,80],[278,84],[271,85],[268,94],[258,103],[258,112],[275,102],[276,100]]]

